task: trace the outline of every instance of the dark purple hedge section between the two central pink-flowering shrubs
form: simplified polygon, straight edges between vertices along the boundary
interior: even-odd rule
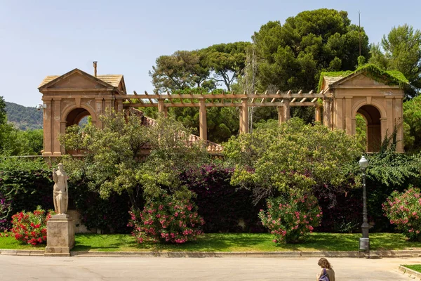
[[[194,202],[199,215],[206,221],[203,226],[205,233],[265,230],[258,217],[262,204],[254,206],[251,190],[229,183],[233,171],[222,165],[206,164],[180,175],[183,183],[197,195]],[[240,222],[243,226],[239,225]]]

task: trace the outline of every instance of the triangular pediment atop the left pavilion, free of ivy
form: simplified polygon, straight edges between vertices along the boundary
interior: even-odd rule
[[[83,72],[75,68],[74,70],[63,74],[60,77],[46,77],[39,90],[42,89],[101,89],[113,88],[108,84],[91,74]]]

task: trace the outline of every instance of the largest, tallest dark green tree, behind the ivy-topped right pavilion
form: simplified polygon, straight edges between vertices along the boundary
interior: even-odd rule
[[[354,70],[359,57],[359,27],[345,11],[321,8],[267,22],[253,35],[260,63],[259,88],[281,91],[316,89],[321,71]],[[368,37],[361,28],[361,55],[368,57]]]

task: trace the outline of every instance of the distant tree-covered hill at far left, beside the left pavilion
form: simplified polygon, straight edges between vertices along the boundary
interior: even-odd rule
[[[7,120],[21,130],[42,129],[42,110],[6,101]]]

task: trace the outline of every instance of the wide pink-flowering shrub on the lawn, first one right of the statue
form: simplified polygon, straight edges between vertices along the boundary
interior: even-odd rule
[[[185,243],[201,235],[203,219],[197,214],[196,206],[189,200],[177,200],[162,195],[158,200],[149,200],[142,212],[130,211],[128,226],[139,243],[145,239],[155,242]]]

